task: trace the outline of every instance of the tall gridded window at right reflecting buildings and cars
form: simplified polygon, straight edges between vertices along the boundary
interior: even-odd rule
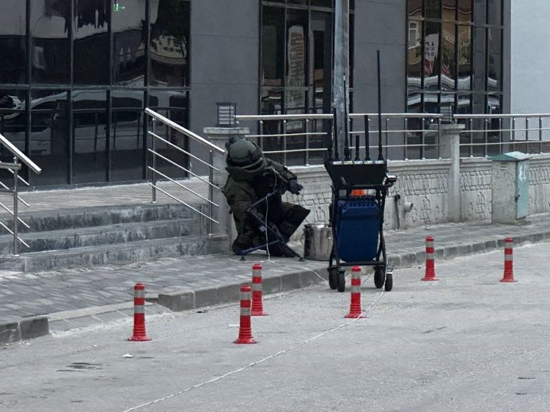
[[[408,0],[407,110],[500,113],[502,0]]]

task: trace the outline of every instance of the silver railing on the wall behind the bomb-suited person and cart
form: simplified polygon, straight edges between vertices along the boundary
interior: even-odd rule
[[[432,113],[382,113],[379,121],[377,113],[351,113],[351,157],[369,157],[371,150],[379,147],[382,125],[386,159],[439,158],[442,117]],[[237,115],[236,119],[257,130],[246,137],[256,139],[265,155],[285,165],[322,163],[333,134],[331,114]]]

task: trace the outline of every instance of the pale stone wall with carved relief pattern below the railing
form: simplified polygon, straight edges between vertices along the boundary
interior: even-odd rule
[[[529,160],[529,214],[550,211],[550,155],[533,155]],[[448,222],[451,201],[461,203],[461,220],[491,220],[492,161],[485,158],[461,159],[460,199],[449,196],[450,160],[389,161],[388,170],[397,176],[386,200],[385,226],[396,229]],[[300,196],[287,194],[287,201],[311,209],[307,222],[329,222],[331,181],[325,168],[292,168],[304,185]],[[399,194],[399,202],[394,196]],[[412,202],[405,213],[403,203]],[[301,231],[298,231],[301,235]]]

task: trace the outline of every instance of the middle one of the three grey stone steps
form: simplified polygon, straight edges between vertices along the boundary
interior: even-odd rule
[[[21,239],[28,243],[30,248],[19,244],[19,253],[118,244],[137,240],[179,238],[192,234],[198,235],[199,231],[200,225],[197,219],[176,219],[22,233]],[[12,248],[13,237],[11,235],[0,236],[0,254],[10,254]]]

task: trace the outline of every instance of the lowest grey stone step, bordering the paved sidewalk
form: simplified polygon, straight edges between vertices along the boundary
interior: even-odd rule
[[[60,268],[146,262],[179,255],[221,253],[229,247],[228,236],[183,236],[139,240],[120,244],[78,247],[3,256],[0,269],[23,272],[53,271]]]

